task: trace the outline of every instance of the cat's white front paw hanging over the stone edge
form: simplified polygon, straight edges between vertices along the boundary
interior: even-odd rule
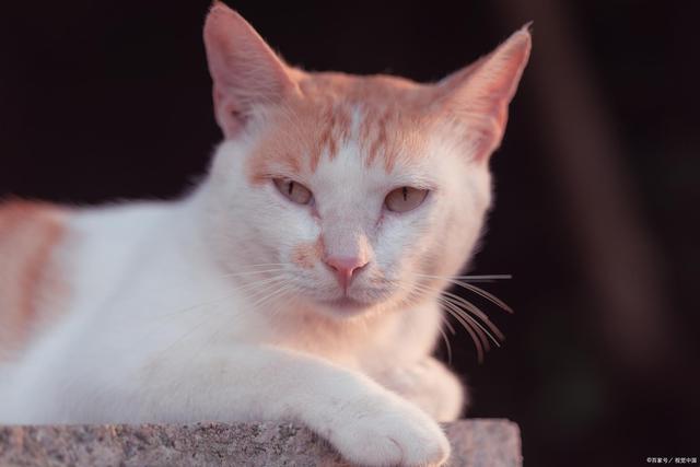
[[[348,460],[363,466],[440,466],[450,442],[417,407],[394,399],[365,400],[342,410],[328,439]]]

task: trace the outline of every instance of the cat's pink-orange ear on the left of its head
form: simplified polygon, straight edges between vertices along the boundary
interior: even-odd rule
[[[219,1],[207,15],[205,45],[214,115],[226,138],[235,137],[256,108],[279,102],[295,87],[288,67],[253,26]]]

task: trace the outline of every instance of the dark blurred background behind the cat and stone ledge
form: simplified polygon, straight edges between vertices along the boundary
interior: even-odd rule
[[[453,366],[528,466],[700,458],[697,2],[230,1],[291,63],[436,80],[534,20],[476,273],[516,311]],[[0,196],[176,196],[206,170],[207,2],[14,2],[0,15]],[[444,349],[443,349],[444,350]],[[444,352],[443,352],[444,353]]]

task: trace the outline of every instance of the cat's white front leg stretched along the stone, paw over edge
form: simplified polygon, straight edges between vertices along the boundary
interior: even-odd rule
[[[298,420],[349,460],[439,465],[450,444],[422,410],[360,373],[279,348],[171,355],[149,365],[143,400],[156,420]]]

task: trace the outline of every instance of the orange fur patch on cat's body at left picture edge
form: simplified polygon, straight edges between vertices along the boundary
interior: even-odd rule
[[[62,289],[49,271],[63,232],[59,208],[28,201],[0,205],[0,353],[24,343],[39,318],[39,297]]]

